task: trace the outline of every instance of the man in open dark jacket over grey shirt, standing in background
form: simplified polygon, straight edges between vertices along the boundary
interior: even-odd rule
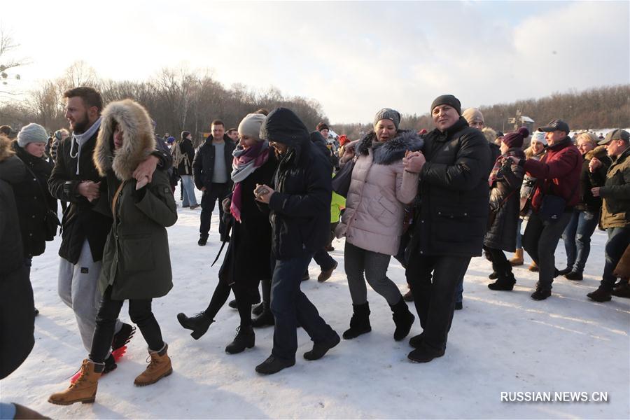
[[[193,179],[195,186],[204,192],[202,195],[202,214],[199,226],[199,241],[204,246],[210,232],[210,218],[219,202],[219,235],[221,241],[228,239],[225,223],[223,223],[223,206],[221,202],[232,190],[232,152],[235,144],[225,134],[225,125],[221,120],[214,120],[211,124],[212,134],[208,136],[195,154],[193,160]]]

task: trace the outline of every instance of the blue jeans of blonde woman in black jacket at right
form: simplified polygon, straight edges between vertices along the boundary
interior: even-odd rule
[[[591,236],[599,221],[599,212],[575,211],[562,234],[566,266],[582,274],[591,252]]]

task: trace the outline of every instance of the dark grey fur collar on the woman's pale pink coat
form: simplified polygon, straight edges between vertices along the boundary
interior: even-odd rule
[[[398,130],[396,137],[374,148],[374,163],[391,165],[405,157],[405,151],[420,151],[424,140],[414,130]],[[358,155],[367,155],[376,139],[374,132],[367,133],[356,146]]]

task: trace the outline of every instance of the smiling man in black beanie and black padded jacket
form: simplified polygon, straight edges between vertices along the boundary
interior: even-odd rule
[[[405,170],[420,173],[420,212],[406,272],[423,328],[409,339],[416,349],[408,357],[415,362],[444,355],[456,286],[470,258],[482,253],[489,212],[488,141],[468,127],[451,94],[433,101],[431,116],[436,128],[424,137],[423,155],[403,159]]]

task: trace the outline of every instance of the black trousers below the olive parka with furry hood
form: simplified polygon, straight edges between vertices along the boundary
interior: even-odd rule
[[[116,319],[123,307],[124,300],[112,300],[111,286],[107,288],[101,300],[101,307],[96,319],[96,328],[92,337],[90,360],[94,363],[104,363],[109,353],[111,340],[113,339]],[[138,325],[148,348],[158,351],[164,346],[162,330],[151,311],[151,299],[130,299],[129,316],[133,323]]]

